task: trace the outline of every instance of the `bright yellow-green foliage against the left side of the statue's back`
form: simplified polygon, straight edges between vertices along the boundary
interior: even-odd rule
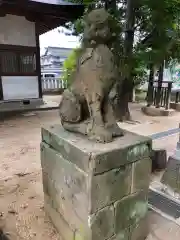
[[[63,64],[62,79],[67,81],[68,85],[71,83],[72,75],[77,65],[80,48],[74,49]]]

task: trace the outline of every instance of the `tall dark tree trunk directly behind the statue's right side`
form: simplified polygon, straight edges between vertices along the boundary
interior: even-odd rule
[[[123,71],[123,83],[120,87],[119,96],[119,112],[117,120],[130,120],[130,111],[128,107],[128,102],[130,95],[133,91],[133,76],[132,76],[132,53],[133,53],[133,43],[134,43],[134,25],[135,25],[135,7],[134,0],[127,0],[127,10],[126,10],[126,32],[125,32],[125,60],[124,60],[124,71]]]

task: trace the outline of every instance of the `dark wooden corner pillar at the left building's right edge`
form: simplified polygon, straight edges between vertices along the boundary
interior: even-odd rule
[[[41,57],[39,45],[39,24],[35,23],[36,32],[36,70],[38,73],[39,98],[42,98],[42,82],[41,82]]]

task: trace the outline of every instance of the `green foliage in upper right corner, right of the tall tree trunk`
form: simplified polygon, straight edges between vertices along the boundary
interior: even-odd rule
[[[147,64],[153,62],[154,65],[159,65],[164,60],[179,58],[180,1],[142,0],[140,9],[143,16],[140,36],[146,41],[139,41],[138,48],[144,52],[142,56]]]

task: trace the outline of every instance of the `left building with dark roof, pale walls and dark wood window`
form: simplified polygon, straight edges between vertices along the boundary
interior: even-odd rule
[[[83,8],[62,0],[0,0],[0,111],[42,100],[39,36]]]

